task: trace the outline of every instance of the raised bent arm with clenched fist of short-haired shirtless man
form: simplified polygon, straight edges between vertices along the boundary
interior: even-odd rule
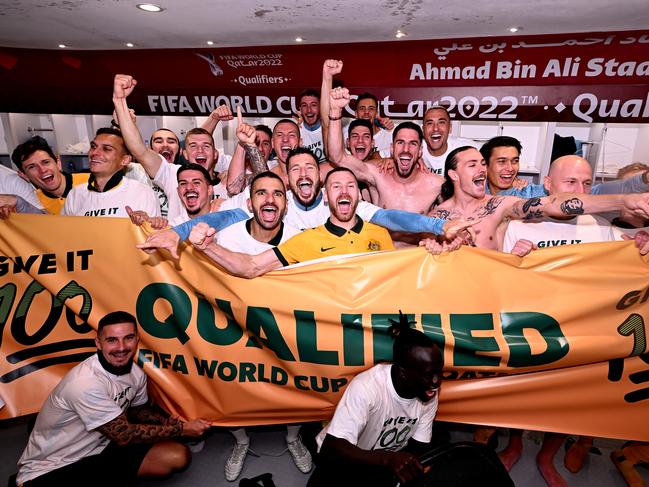
[[[342,131],[342,111],[349,103],[349,90],[347,88],[334,88],[329,92],[329,139],[327,153],[329,161],[335,166],[343,166],[354,171],[360,181],[376,186],[371,168],[372,164],[347,154],[344,149]]]

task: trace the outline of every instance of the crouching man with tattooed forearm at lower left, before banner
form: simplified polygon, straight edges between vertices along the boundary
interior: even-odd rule
[[[189,449],[170,438],[200,436],[210,424],[184,423],[148,403],[146,376],[133,365],[138,340],[129,313],[99,320],[97,353],[63,377],[36,418],[18,485],[117,487],[189,464]]]

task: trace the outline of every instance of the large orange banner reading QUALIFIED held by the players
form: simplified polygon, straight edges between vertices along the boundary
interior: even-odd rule
[[[117,309],[137,316],[137,362],[172,412],[327,418],[355,374],[390,359],[403,310],[444,347],[439,419],[649,440],[649,265],[632,243],[524,259],[410,249],[246,280],[191,248],[146,255],[143,239],[117,218],[0,222],[0,418],[37,411]]]

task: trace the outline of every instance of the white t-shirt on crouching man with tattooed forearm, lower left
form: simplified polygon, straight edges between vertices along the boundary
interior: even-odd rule
[[[18,483],[99,454],[110,440],[97,428],[147,401],[146,376],[140,367],[134,364],[128,374],[113,375],[97,354],[87,358],[45,400],[18,460]]]

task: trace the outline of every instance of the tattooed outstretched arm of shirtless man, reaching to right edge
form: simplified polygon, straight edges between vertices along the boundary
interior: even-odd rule
[[[627,195],[558,193],[544,198],[513,199],[506,205],[504,216],[513,220],[532,220],[544,216],[566,218],[619,210],[628,210],[634,215],[647,218],[649,193]]]

